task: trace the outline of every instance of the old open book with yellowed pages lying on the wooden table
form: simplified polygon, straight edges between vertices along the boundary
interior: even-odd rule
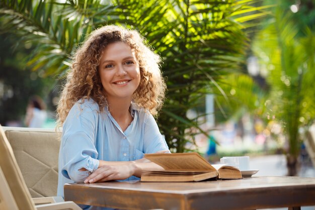
[[[224,164],[211,165],[198,153],[145,154],[144,158],[165,170],[143,171],[141,181],[147,182],[187,182],[211,178],[242,179],[241,171]]]

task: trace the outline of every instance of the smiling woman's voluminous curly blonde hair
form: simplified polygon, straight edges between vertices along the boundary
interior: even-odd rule
[[[80,99],[92,98],[104,110],[107,105],[99,63],[104,49],[111,43],[124,42],[135,51],[140,67],[140,84],[133,101],[153,115],[161,109],[166,85],[161,73],[161,58],[144,44],[144,38],[135,30],[119,26],[103,26],[93,31],[72,57],[66,84],[57,107],[58,125],[62,126],[71,107]]]

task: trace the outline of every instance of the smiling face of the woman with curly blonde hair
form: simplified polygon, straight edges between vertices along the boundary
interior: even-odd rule
[[[131,100],[140,83],[135,52],[124,42],[111,43],[104,49],[99,73],[108,101]]]

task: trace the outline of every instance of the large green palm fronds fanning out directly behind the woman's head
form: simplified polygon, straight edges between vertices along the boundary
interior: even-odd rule
[[[244,61],[246,35],[241,23],[268,14],[254,0],[1,0],[0,28],[37,43],[33,69],[63,74],[67,58],[86,34],[106,24],[138,30],[164,58],[167,100],[158,123],[173,152],[183,152],[196,133],[205,133],[186,112],[200,98],[221,90],[220,83]]]

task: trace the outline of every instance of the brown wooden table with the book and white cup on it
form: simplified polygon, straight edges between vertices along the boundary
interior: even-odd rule
[[[315,205],[315,178],[65,184],[65,200],[120,209],[259,209]]]

